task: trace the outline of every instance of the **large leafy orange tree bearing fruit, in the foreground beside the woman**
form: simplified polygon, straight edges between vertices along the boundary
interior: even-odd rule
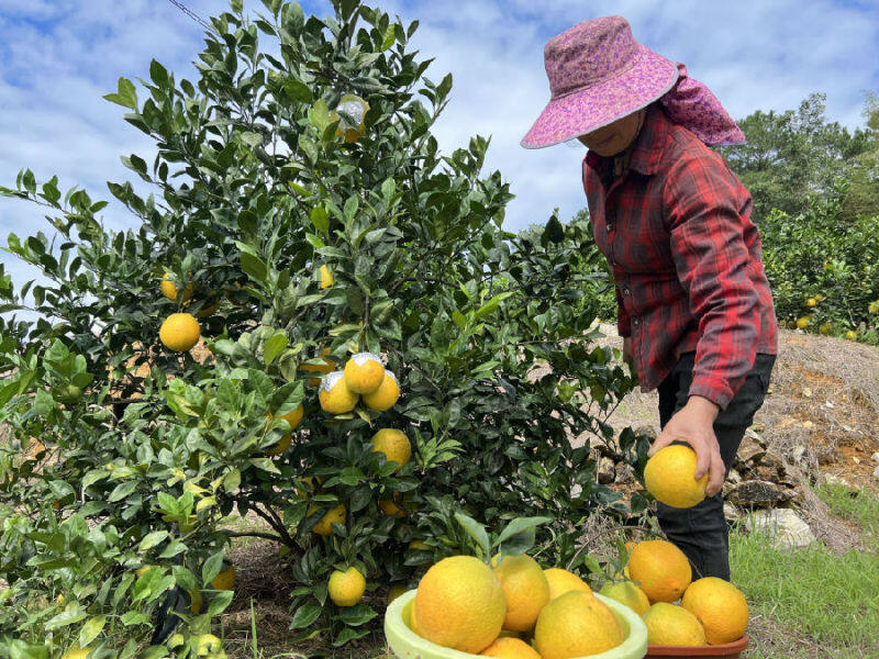
[[[467,549],[459,511],[552,517],[536,540],[559,562],[586,515],[624,510],[575,442],[610,442],[633,386],[578,311],[585,224],[503,230],[488,141],[445,156],[431,134],[452,78],[407,49],[416,24],[353,0],[323,20],[264,3],[212,19],[197,81],[154,60],[107,97],[156,144],[123,158],[149,196],[109,183],[136,230],[30,170],[0,189],[51,227],[8,239],[37,281],[0,272],[4,657],[222,656],[215,578],[241,535],[289,558],[298,637],[342,645],[377,612],[333,604],[336,569],[404,583]],[[163,328],[175,313],[190,316]],[[315,371],[359,351],[402,395],[324,412]],[[402,468],[372,449],[379,428],[411,443]],[[621,439],[643,465],[645,440]]]

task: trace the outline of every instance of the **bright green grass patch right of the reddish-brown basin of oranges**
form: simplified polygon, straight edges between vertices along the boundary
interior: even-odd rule
[[[732,534],[730,562],[752,614],[834,646],[827,650],[879,656],[879,555],[835,556],[821,544],[778,550],[763,534]]]

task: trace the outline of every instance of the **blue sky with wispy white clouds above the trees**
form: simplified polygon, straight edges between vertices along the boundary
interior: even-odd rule
[[[183,2],[202,18],[225,0]],[[525,150],[519,142],[548,100],[543,46],[553,35],[591,18],[621,14],[635,38],[682,62],[730,113],[795,109],[809,94],[827,94],[827,116],[850,130],[864,125],[866,92],[879,89],[879,8],[875,0],[390,0],[380,4],[407,22],[419,19],[414,46],[436,60],[427,76],[454,75],[452,103],[436,126],[441,148],[491,135],[487,172],[500,169],[516,194],[507,226],[543,223],[558,206],[567,220],[586,205],[580,148]],[[302,3],[326,15],[325,1]],[[547,9],[546,5],[549,5]],[[538,9],[539,8],[539,9]],[[245,0],[245,9],[262,3]],[[202,27],[166,0],[0,0],[0,185],[30,167],[37,180],[57,174],[60,188],[86,188],[111,199],[105,181],[132,177],[120,155],[151,161],[152,143],[101,97],[116,78],[148,78],[156,58],[177,77],[196,79],[191,62]],[[143,189],[143,188],[141,188]],[[105,209],[109,227],[132,226],[118,203]],[[36,206],[0,199],[0,244],[46,231]],[[32,277],[0,253],[18,284]]]

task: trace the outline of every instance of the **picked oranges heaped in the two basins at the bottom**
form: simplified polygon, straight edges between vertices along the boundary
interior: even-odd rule
[[[686,556],[666,540],[630,544],[624,574],[601,595],[630,607],[656,646],[720,645],[739,639],[748,610],[742,592],[712,577],[691,581]],[[571,659],[623,644],[613,611],[577,574],[543,569],[527,555],[491,565],[453,556],[421,579],[405,624],[436,645],[500,659]]]

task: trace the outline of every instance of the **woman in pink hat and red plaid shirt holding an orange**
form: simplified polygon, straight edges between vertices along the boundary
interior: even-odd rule
[[[750,221],[752,199],[708,145],[744,135],[683,65],[638,44],[625,19],[563,32],[544,51],[552,99],[522,141],[589,148],[583,188],[613,271],[623,354],[658,389],[663,428],[649,455],[685,442],[709,474],[691,509],[657,504],[666,536],[702,577],[730,579],[720,494],[777,349],[777,324]]]

